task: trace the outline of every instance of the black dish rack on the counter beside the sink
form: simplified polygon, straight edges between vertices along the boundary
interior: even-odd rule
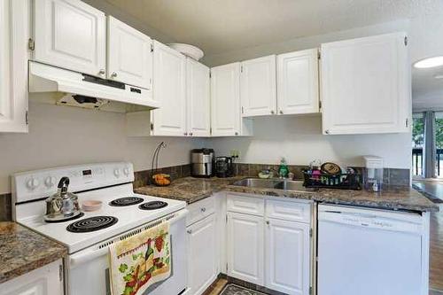
[[[312,175],[311,171],[303,171],[306,188],[324,188],[338,190],[361,190],[361,175],[358,173],[329,175],[325,173]]]

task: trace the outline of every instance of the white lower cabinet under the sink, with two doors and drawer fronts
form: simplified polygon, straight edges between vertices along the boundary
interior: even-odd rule
[[[228,276],[289,295],[308,295],[311,204],[228,193],[227,210]]]

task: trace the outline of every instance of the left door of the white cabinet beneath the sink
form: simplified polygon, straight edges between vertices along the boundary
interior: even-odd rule
[[[228,213],[228,276],[263,285],[263,217]]]

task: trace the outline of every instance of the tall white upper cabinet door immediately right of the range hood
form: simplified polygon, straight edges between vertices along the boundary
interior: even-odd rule
[[[153,99],[159,109],[152,111],[154,136],[186,136],[186,93],[184,55],[154,41]]]

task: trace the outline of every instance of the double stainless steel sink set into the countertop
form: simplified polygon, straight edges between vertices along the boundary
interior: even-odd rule
[[[290,181],[282,179],[260,179],[260,178],[245,178],[234,182],[232,185],[245,186],[248,188],[261,189],[277,189],[277,190],[293,190],[303,192],[314,192],[316,189],[305,188],[303,182]]]

